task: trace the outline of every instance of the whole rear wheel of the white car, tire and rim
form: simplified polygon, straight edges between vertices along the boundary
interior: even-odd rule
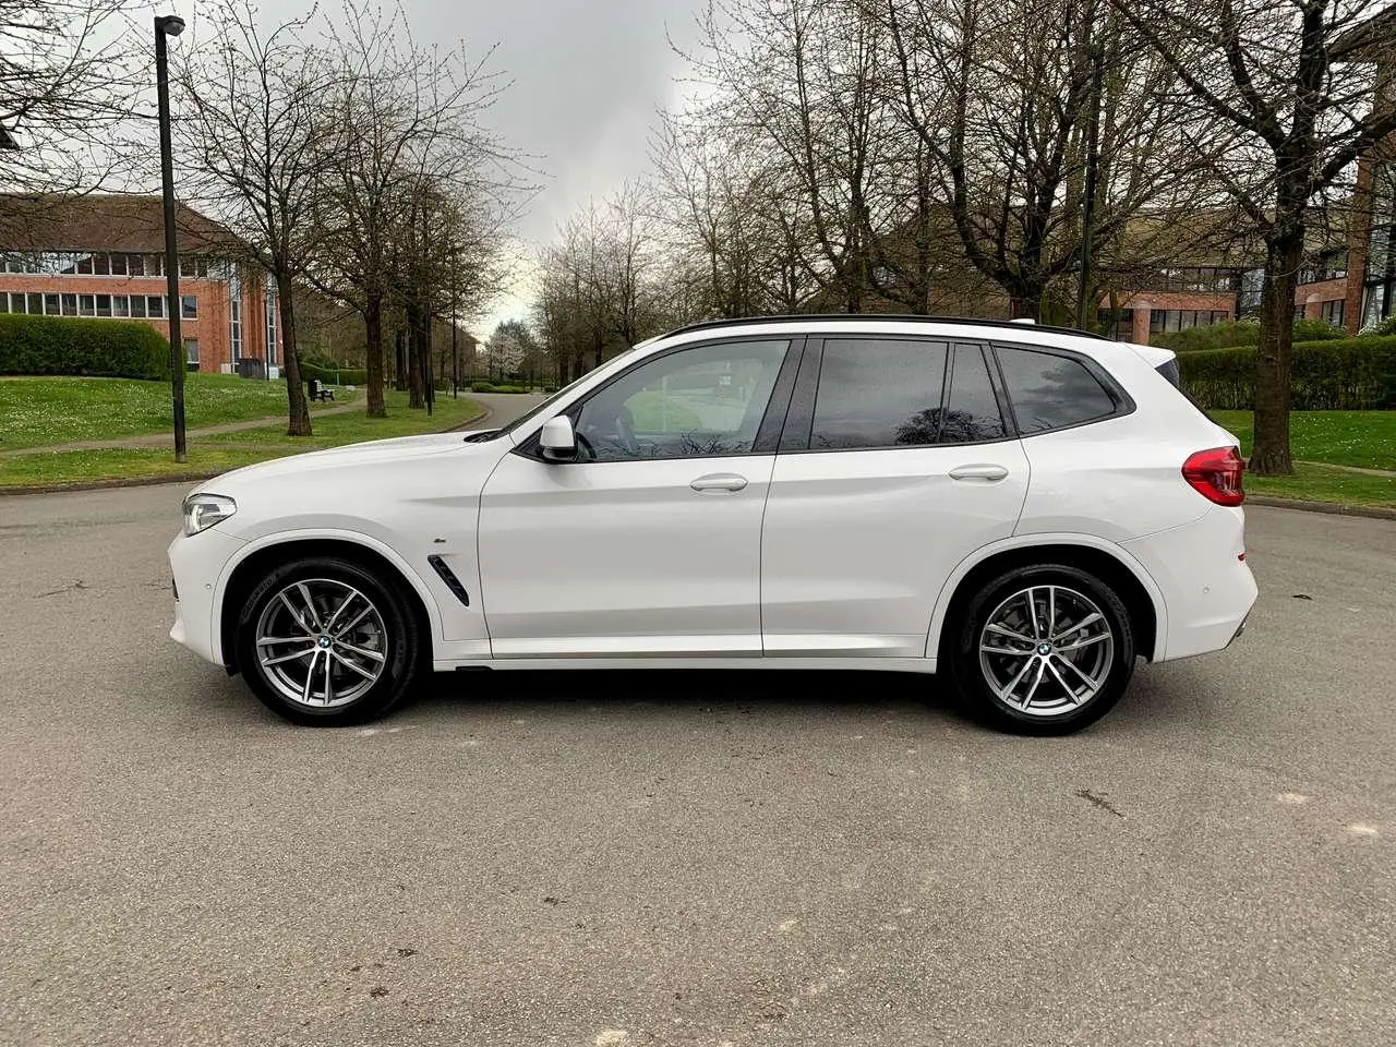
[[[951,671],[986,720],[1033,734],[1085,727],[1120,701],[1134,673],[1129,613],[1076,567],[1022,567],[976,593]]]

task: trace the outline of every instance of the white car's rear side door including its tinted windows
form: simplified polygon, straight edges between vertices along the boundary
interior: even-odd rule
[[[810,339],[761,536],[766,655],[926,653],[946,577],[1027,493],[991,369],[977,342]]]

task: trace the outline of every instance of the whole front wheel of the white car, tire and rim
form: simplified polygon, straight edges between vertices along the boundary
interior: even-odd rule
[[[239,623],[243,676],[268,708],[296,723],[381,716],[416,673],[420,637],[401,593],[348,560],[279,567],[248,595]]]

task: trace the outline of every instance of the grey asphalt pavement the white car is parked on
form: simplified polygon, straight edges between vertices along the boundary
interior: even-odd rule
[[[183,489],[0,500],[0,1041],[1389,1044],[1396,525],[1067,738],[875,674],[315,732],[166,639]]]

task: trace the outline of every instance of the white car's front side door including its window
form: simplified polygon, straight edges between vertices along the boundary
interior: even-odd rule
[[[761,512],[799,350],[678,348],[567,413],[575,462],[530,443],[480,501],[496,658],[761,653]]]

